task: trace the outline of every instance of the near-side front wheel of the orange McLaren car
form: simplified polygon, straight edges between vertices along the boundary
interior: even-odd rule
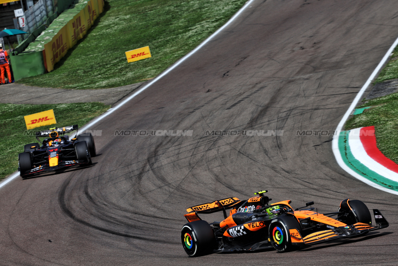
[[[282,215],[271,221],[268,237],[277,252],[289,252],[297,249],[297,246],[292,245],[289,229],[297,229],[301,235],[300,224],[293,216]]]

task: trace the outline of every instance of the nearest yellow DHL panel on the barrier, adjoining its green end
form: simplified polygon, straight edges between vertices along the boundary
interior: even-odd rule
[[[44,45],[43,59],[45,67],[49,72],[54,69],[55,63],[66,55],[66,52],[70,48],[66,26],[62,27],[53,39]]]

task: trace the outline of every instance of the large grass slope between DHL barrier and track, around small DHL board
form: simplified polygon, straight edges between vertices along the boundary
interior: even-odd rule
[[[100,89],[156,77],[236,13],[246,0],[108,0],[88,35],[55,70],[18,81],[64,89]],[[151,58],[125,52],[149,45]]]

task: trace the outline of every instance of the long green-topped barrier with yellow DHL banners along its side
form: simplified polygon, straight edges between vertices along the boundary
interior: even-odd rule
[[[57,10],[69,7],[31,33],[10,55],[14,80],[41,75],[54,69],[68,49],[75,45],[103,12],[103,0],[58,0]]]

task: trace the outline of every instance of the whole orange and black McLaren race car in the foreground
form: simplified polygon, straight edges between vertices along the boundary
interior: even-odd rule
[[[313,201],[295,210],[290,200],[269,204],[271,199],[263,195],[266,192],[254,193],[256,196],[246,201],[232,197],[188,208],[184,215],[188,223],[181,229],[182,246],[188,256],[263,248],[287,252],[388,227],[377,209],[373,209],[372,224],[369,209],[359,200],[345,199],[337,212],[320,214],[308,207]],[[229,216],[226,209],[230,209]],[[208,223],[198,216],[216,211],[224,213],[221,222]]]

